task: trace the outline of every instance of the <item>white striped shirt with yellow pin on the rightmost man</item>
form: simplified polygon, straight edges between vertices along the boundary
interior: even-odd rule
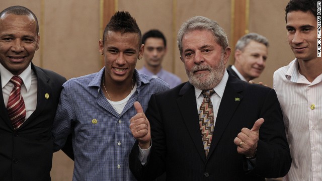
[[[322,74],[309,82],[298,60],[274,72],[292,165],[284,180],[322,180]]]

